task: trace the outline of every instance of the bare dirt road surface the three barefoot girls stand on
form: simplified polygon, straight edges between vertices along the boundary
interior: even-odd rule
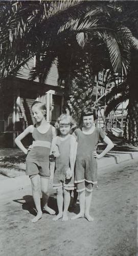
[[[3,256],[135,256],[137,253],[137,164],[129,160],[104,168],[93,191],[90,214],[93,222],[81,218],[53,222],[44,213],[37,223],[31,186],[1,195],[1,251]],[[3,180],[4,182],[4,180]],[[57,210],[51,191],[49,205]],[[70,208],[68,216],[79,212]]]

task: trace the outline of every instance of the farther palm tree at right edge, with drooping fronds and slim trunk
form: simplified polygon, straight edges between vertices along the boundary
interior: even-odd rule
[[[125,124],[124,137],[127,142],[132,143],[134,146],[138,145],[138,53],[137,51],[131,52],[131,69],[127,76],[120,81],[106,96],[107,108],[105,115],[108,116],[110,111],[116,110],[118,106],[129,100],[127,106],[127,121]]]

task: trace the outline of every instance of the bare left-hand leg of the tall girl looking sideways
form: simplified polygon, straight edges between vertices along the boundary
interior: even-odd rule
[[[32,194],[37,210],[37,215],[31,220],[33,223],[37,222],[42,217],[41,203],[40,203],[40,180],[39,175],[31,178]]]

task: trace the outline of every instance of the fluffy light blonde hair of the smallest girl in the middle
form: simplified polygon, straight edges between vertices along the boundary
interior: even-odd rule
[[[70,116],[68,114],[62,114],[57,118],[57,121],[55,123],[56,129],[59,129],[60,121],[62,121],[63,123],[65,122],[66,124],[70,124],[71,129],[74,129],[77,126],[76,121],[72,118],[72,116]]]

